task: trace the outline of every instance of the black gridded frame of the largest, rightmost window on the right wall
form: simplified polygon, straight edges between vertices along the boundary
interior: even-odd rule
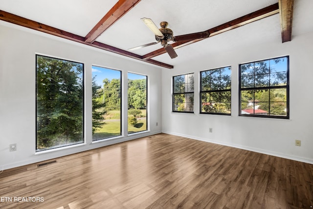
[[[259,63],[259,62],[264,62],[264,61],[268,61],[270,63],[270,60],[275,60],[275,59],[287,59],[287,69],[286,69],[286,85],[282,85],[282,86],[271,86],[270,85],[270,75],[271,75],[271,72],[270,72],[270,65],[268,66],[268,69],[269,69],[269,72],[266,73],[268,74],[268,83],[269,83],[269,86],[265,86],[265,87],[247,87],[247,88],[242,88],[242,71],[241,71],[241,66],[242,65],[246,65],[246,64],[255,64],[255,63]],[[246,117],[263,117],[263,118],[279,118],[279,119],[290,119],[290,97],[289,97],[289,62],[290,62],[290,58],[289,58],[289,55],[286,55],[286,56],[280,56],[280,57],[274,57],[274,58],[270,58],[270,59],[263,59],[263,60],[257,60],[257,61],[254,61],[254,62],[248,62],[248,63],[242,63],[239,65],[239,68],[238,68],[238,71],[239,71],[239,82],[238,82],[238,86],[239,86],[239,106],[238,106],[238,115],[239,116],[246,116]],[[275,73],[275,72],[273,72]],[[253,80],[253,83],[255,85],[255,70],[253,72],[253,76],[254,76],[254,80]],[[242,91],[258,91],[258,90],[268,90],[268,93],[270,94],[270,90],[274,90],[274,89],[286,89],[286,116],[280,116],[280,115],[257,115],[257,114],[242,114],[242,107],[241,107],[241,95],[242,95]],[[255,94],[253,94],[253,103],[255,103]],[[270,114],[270,96],[268,97],[268,110],[269,110],[269,114]],[[253,112],[255,111],[255,109],[253,108]]]

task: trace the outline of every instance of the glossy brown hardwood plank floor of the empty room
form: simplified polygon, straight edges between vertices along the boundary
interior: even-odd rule
[[[312,164],[167,134],[53,160],[57,163],[4,170],[0,174],[0,208],[313,206]],[[28,199],[15,202],[14,197]]]

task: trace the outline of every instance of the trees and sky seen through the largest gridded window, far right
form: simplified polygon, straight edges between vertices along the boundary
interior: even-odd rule
[[[250,88],[241,91],[241,109],[255,108],[269,115],[286,115],[287,88],[275,88],[287,85],[285,58],[248,63],[241,65],[240,70],[241,88]],[[258,89],[260,87],[263,89]],[[252,105],[248,106],[248,101],[253,102]]]

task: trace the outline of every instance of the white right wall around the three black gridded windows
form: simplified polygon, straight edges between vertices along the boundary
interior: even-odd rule
[[[199,57],[162,70],[162,132],[313,163],[313,33]],[[238,116],[238,65],[290,55],[290,119]],[[231,65],[231,116],[199,114],[199,72]],[[194,114],[172,113],[172,76],[195,72]],[[213,128],[213,133],[209,133]],[[295,139],[301,146],[295,146]]]

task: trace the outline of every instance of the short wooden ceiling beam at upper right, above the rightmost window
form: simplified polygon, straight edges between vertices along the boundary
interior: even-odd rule
[[[291,41],[293,0],[278,0],[282,43]]]

